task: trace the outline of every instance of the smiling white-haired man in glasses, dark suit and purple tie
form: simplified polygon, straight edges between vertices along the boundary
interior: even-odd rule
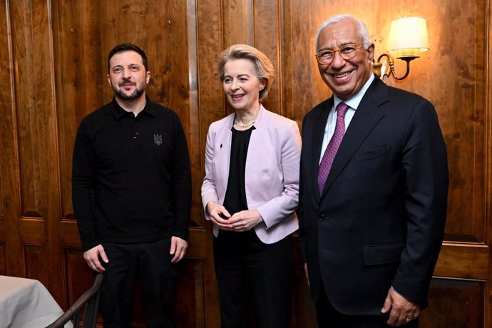
[[[317,33],[334,95],[302,123],[299,242],[319,327],[417,327],[446,220],[446,146],[434,106],[371,73],[352,16]]]

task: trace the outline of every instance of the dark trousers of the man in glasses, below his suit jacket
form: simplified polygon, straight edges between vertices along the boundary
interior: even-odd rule
[[[383,304],[381,303],[381,307]],[[319,299],[316,304],[316,314],[319,328],[390,328],[386,322],[389,319],[389,313],[381,315],[347,315],[342,314],[334,309],[329,302],[327,294],[324,292],[324,286],[321,286]],[[400,326],[401,328],[419,327],[419,319],[412,320],[408,324]]]

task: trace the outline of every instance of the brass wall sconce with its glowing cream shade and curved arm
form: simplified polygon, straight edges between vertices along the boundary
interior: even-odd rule
[[[397,77],[394,73],[394,59],[389,53],[383,53],[372,63],[372,69],[376,75],[383,79],[389,74],[396,80],[403,80],[410,73],[410,61],[420,57],[420,53],[429,51],[429,38],[427,36],[426,20],[422,17],[404,17],[391,22],[389,27],[389,53],[394,53],[396,58],[406,61],[406,72],[404,76]],[[381,58],[386,57],[388,66],[381,72],[383,63]],[[382,74],[382,76],[381,76]]]

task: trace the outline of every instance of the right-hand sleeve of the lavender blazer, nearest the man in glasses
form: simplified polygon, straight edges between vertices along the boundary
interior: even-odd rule
[[[268,229],[292,215],[299,205],[299,163],[301,135],[297,123],[289,120],[280,144],[284,190],[281,195],[257,207]]]

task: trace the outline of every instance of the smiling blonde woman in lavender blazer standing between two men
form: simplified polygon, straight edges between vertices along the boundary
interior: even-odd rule
[[[222,328],[288,327],[299,196],[297,123],[261,101],[272,63],[252,46],[220,53],[218,74],[235,112],[210,125],[202,200],[212,220]]]

